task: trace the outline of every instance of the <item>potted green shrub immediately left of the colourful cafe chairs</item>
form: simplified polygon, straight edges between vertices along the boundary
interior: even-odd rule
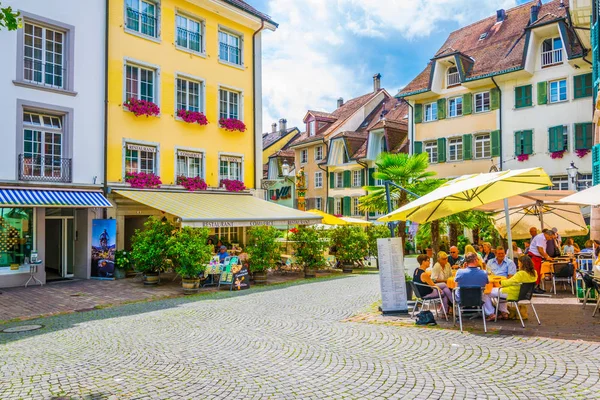
[[[208,228],[183,227],[167,240],[167,256],[181,275],[184,294],[198,292],[200,274],[210,262],[213,248],[208,243]]]

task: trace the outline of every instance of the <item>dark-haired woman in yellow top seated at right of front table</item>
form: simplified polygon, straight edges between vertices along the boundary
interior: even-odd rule
[[[513,275],[510,279],[503,279],[500,281],[501,288],[493,288],[492,293],[486,296],[484,309],[485,313],[489,314],[488,321],[492,321],[496,318],[495,308],[492,304],[492,298],[498,298],[500,296],[508,301],[515,301],[519,298],[519,292],[521,291],[521,283],[533,283],[537,280],[537,272],[533,266],[533,261],[529,256],[519,257],[519,271]],[[508,304],[501,302],[498,304],[498,311],[500,315],[498,319],[508,319]]]

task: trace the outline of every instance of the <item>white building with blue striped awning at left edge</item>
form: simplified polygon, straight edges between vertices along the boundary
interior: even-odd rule
[[[0,287],[89,278],[102,218],[104,0],[5,0],[23,26],[0,31]],[[100,207],[99,207],[100,206]]]

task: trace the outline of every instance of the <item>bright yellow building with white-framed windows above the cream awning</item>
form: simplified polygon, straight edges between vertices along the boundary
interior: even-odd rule
[[[205,194],[221,195],[224,179],[260,188],[261,32],[277,24],[241,0],[115,0],[108,13],[106,182],[117,246],[127,248],[146,216],[165,214],[125,196],[127,175],[159,176],[163,191],[184,190],[181,176],[203,178]],[[136,115],[132,99],[159,111]],[[184,121],[186,112],[208,124]]]

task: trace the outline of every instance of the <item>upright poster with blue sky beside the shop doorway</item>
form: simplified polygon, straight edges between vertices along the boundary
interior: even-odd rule
[[[116,219],[92,220],[91,276],[93,278],[114,278],[116,243]]]

